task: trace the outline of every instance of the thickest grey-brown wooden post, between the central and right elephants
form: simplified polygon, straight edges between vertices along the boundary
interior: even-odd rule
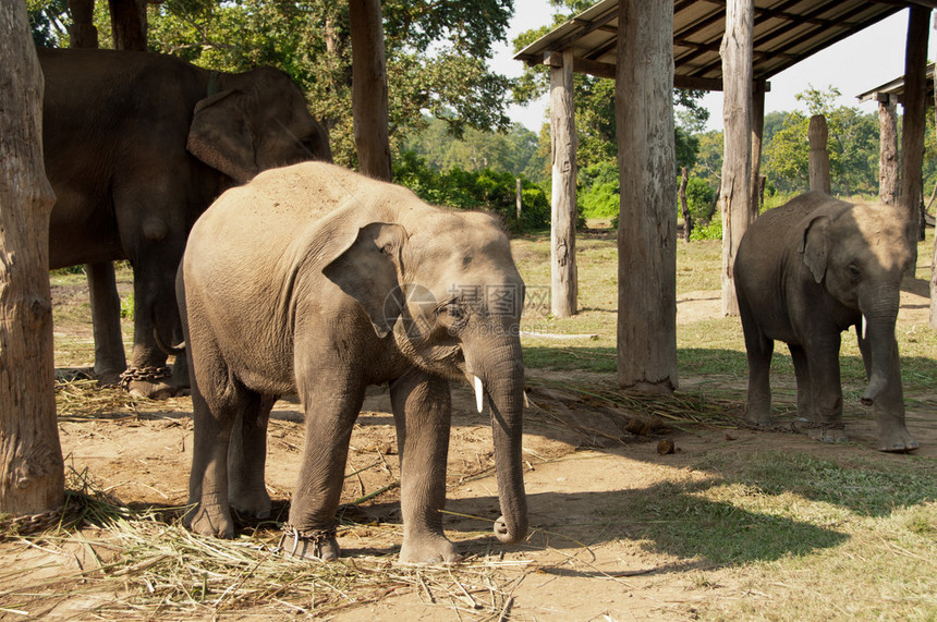
[[[673,2],[621,0],[618,20],[618,382],[669,392],[678,385]]]

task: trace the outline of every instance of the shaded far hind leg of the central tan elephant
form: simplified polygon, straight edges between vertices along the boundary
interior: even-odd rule
[[[246,389],[245,389],[246,391]],[[270,516],[270,496],[264,478],[267,462],[267,423],[277,398],[248,392],[234,422],[228,449],[228,499],[243,516]]]

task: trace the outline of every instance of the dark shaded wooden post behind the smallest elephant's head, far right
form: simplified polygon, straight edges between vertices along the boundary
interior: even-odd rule
[[[908,11],[908,44],[904,50],[904,114],[901,133],[901,191],[898,205],[911,219],[913,255],[916,264],[917,241],[924,233],[924,127],[927,85],[927,38],[930,9],[912,4]],[[912,267],[911,275],[914,276]]]

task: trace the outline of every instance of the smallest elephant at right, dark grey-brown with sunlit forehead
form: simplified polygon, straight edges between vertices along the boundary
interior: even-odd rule
[[[845,440],[839,376],[840,332],[856,327],[881,451],[917,448],[904,427],[895,322],[911,260],[908,229],[889,206],[801,195],[760,216],[735,258],[735,292],[749,354],[753,424],[771,420],[768,370],[774,340],[791,351],[798,413],[827,442]]]

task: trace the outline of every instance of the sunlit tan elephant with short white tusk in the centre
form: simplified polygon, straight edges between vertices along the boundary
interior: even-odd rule
[[[334,514],[365,388],[388,382],[397,424],[402,561],[453,561],[442,533],[450,381],[491,410],[498,538],[527,529],[521,462],[524,283],[488,216],[309,162],[224,193],[196,222],[177,282],[193,366],[190,526],[230,537],[230,508],[266,516],[267,418],[306,412],[290,508],[297,554],[334,559]],[[230,451],[229,451],[230,446]]]

